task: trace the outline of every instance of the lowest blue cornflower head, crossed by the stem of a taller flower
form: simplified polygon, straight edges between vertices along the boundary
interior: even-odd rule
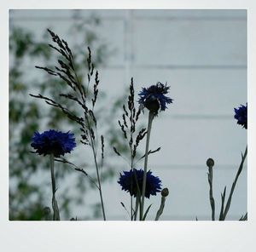
[[[122,190],[130,192],[131,196],[137,196],[137,184],[140,192],[143,192],[143,169],[133,169],[130,171],[124,171],[124,175],[120,174],[118,183],[122,186]],[[137,178],[137,181],[136,179]],[[147,172],[146,192],[145,197],[149,198],[150,195],[156,195],[156,192],[160,192],[161,180],[159,177],[152,175],[152,172]]]

